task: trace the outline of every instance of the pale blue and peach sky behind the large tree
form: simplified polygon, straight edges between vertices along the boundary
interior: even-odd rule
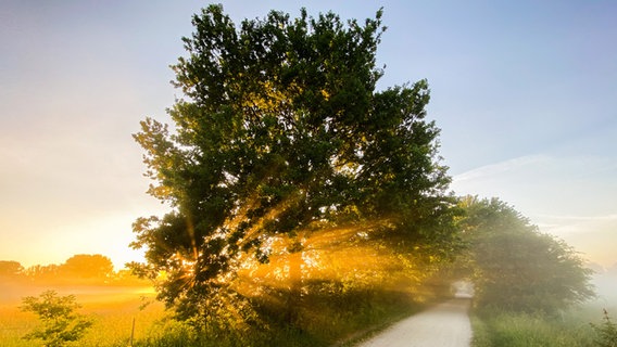
[[[222,1],[239,23],[333,11],[388,27],[378,87],[426,78],[457,195],[499,197],[605,267],[617,262],[617,2]],[[0,259],[139,260],[147,116],[168,123],[168,67],[204,1],[0,3]]]

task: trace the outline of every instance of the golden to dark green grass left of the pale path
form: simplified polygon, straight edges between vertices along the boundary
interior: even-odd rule
[[[135,347],[353,346],[388,323],[421,308],[408,293],[348,292],[344,295],[307,296],[294,323],[270,312],[264,314],[267,321],[261,322],[260,326],[247,326],[235,332],[210,329],[198,333],[186,323],[169,319],[160,303],[141,309],[143,293],[135,288],[126,288],[126,292],[67,288],[60,294],[72,293],[76,293],[77,303],[81,305],[79,313],[95,321],[84,338],[71,345],[83,347],[128,346],[134,319]],[[151,301],[154,294],[147,296],[147,301]],[[38,320],[32,312],[22,312],[20,305],[17,298],[0,303],[0,346],[40,346],[22,339],[38,324]]]

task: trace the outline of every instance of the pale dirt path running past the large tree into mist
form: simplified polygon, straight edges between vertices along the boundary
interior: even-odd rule
[[[412,316],[357,347],[469,347],[468,298],[456,298]]]

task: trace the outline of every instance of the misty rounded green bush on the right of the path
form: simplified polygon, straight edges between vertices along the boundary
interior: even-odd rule
[[[593,297],[591,270],[565,242],[538,232],[499,200],[466,197],[462,205],[464,271],[474,278],[478,306],[556,313]]]

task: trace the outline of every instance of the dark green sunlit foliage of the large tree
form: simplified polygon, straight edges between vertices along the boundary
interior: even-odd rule
[[[146,248],[147,264],[131,267],[158,280],[180,317],[227,314],[225,304],[251,321],[249,298],[230,285],[247,255],[301,253],[319,226],[380,219],[365,239],[423,249],[430,261],[452,249],[427,82],[375,90],[381,11],[363,24],[273,11],[236,26],[210,5],[192,23],[188,56],[173,66],[184,93],[168,111],[173,130],[147,118],[134,136],[149,193],[172,210],[134,223],[131,245]],[[305,265],[288,268],[298,304]]]

